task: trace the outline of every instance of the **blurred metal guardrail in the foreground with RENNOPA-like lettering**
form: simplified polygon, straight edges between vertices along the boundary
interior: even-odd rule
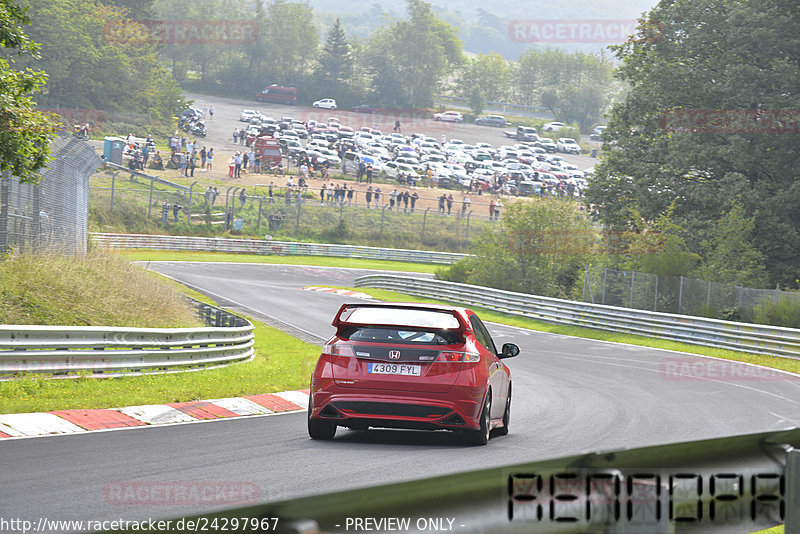
[[[785,521],[796,533],[799,446],[794,428],[589,452],[175,519],[167,530],[235,520],[282,534],[733,534]]]

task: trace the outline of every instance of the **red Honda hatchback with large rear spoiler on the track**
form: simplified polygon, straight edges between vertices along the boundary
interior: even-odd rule
[[[411,303],[344,304],[311,376],[308,433],[336,428],[454,430],[485,445],[508,433],[511,373],[471,310]]]

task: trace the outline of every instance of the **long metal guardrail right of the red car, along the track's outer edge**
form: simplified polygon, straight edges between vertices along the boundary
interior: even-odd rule
[[[367,275],[356,278],[355,285],[481,306],[548,323],[800,358],[800,330],[791,328],[617,308],[410,276]]]

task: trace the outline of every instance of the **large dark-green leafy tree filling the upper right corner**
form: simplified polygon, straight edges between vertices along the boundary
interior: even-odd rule
[[[612,109],[588,201],[616,228],[627,227],[632,209],[654,220],[675,203],[693,250],[740,202],[770,284],[793,284],[800,263],[797,130],[748,131],[735,120],[800,107],[800,7],[790,0],[663,2],[647,19],[659,21],[657,39],[614,47],[630,91]],[[703,110],[729,110],[722,115],[729,127],[669,127],[676,114]]]

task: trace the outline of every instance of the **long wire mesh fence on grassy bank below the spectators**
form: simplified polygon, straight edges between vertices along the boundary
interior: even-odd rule
[[[143,184],[141,177],[136,178]],[[367,202],[363,191],[337,196],[319,190],[273,187],[248,187],[250,195],[240,195],[243,188],[229,187],[214,193],[208,189],[192,191],[166,190],[131,186],[129,180],[117,178],[112,187],[91,188],[92,205],[148,219],[170,233],[194,232],[234,235],[270,235],[275,239],[320,240],[393,246],[401,248],[434,247],[438,250],[464,251],[470,240],[485,227],[499,224],[490,219],[479,204],[453,202],[443,209],[438,202],[421,207],[421,202],[405,203],[385,192]],[[423,195],[427,191],[420,191]],[[424,197],[422,197],[424,198]],[[186,222],[190,226],[186,226]]]

